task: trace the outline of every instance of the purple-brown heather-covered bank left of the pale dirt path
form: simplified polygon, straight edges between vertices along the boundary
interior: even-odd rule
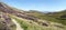
[[[0,14],[0,30],[13,30],[16,27],[6,13]]]

